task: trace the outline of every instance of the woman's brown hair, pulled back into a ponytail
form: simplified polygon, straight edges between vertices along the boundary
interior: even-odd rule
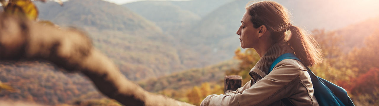
[[[251,15],[254,28],[265,25],[274,42],[285,40],[285,31],[291,31],[291,37],[287,41],[294,49],[295,54],[305,66],[313,66],[323,61],[321,49],[312,35],[303,29],[292,26],[290,15],[286,8],[277,2],[263,1],[246,6],[246,11]]]

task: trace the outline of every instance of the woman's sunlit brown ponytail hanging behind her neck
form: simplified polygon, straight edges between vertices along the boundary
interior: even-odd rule
[[[297,26],[289,25],[289,30],[291,38],[288,43],[305,66],[313,66],[323,61],[321,48],[312,35]]]

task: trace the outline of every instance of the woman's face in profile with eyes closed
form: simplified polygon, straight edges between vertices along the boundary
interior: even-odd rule
[[[241,20],[241,26],[237,31],[237,34],[240,35],[241,48],[255,48],[259,40],[258,28],[253,27],[250,18],[249,13],[245,12]]]

